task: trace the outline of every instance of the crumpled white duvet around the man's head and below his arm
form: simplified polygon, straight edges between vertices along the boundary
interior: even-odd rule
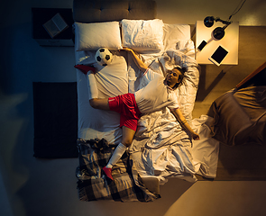
[[[142,177],[155,176],[161,184],[170,177],[179,177],[190,182],[197,181],[196,174],[216,177],[219,142],[209,137],[213,119],[201,116],[192,120],[192,111],[197,94],[199,67],[194,58],[178,50],[168,50],[155,58],[150,67],[164,74],[176,65],[187,68],[182,85],[176,90],[180,110],[190,126],[199,133],[200,140],[191,140],[168,108],[145,114],[138,122],[130,153]],[[145,85],[136,74],[134,89]]]

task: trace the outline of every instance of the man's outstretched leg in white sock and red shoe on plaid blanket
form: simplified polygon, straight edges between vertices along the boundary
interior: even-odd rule
[[[114,180],[112,176],[112,167],[123,156],[126,148],[128,148],[131,145],[135,134],[135,130],[132,130],[125,126],[122,127],[122,132],[123,132],[122,142],[115,148],[114,154],[110,158],[108,164],[103,168],[105,175],[107,175],[107,177],[112,180]]]

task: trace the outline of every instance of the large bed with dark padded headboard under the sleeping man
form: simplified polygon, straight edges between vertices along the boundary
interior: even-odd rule
[[[192,141],[167,108],[142,115],[133,144],[113,167],[115,181],[109,182],[101,168],[122,138],[119,114],[90,107],[87,76],[77,69],[79,199],[150,202],[161,197],[159,185],[170,177],[190,182],[197,181],[196,175],[214,178],[219,143],[209,137],[212,118],[192,118],[200,68],[190,26],[156,19],[155,1],[74,0],[73,18],[76,64],[96,67],[99,97],[134,93],[146,85],[122,47],[135,50],[157,73],[175,65],[185,67],[186,76],[176,94],[181,112],[201,138]],[[114,55],[106,67],[95,60],[101,47]]]

